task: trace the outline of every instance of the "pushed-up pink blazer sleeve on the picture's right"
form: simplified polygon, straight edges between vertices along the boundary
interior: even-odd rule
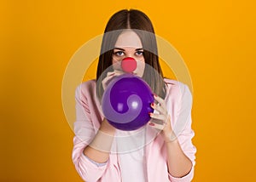
[[[192,110],[192,94],[189,87],[183,84],[182,96],[179,101],[179,109],[177,111],[177,122],[174,125],[174,132],[177,135],[177,139],[181,148],[186,156],[189,157],[193,166],[188,174],[182,178],[175,178],[169,173],[169,179],[172,182],[189,182],[194,177],[195,169],[195,152],[196,148],[192,144],[192,138],[195,136],[193,129],[191,128],[191,110]]]

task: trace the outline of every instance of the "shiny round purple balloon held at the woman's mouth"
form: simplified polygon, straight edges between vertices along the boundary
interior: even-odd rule
[[[150,120],[152,102],[154,96],[148,83],[141,77],[124,74],[108,84],[102,96],[102,111],[114,128],[131,131]]]

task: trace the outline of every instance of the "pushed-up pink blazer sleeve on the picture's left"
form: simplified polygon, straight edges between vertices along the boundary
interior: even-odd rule
[[[90,144],[92,139],[96,136],[93,122],[90,115],[90,107],[86,99],[86,93],[84,93],[83,83],[81,83],[75,91],[76,100],[76,121],[74,122],[73,138],[73,163],[84,181],[97,181],[102,177],[102,174],[106,170],[108,164],[96,165],[84,155],[84,148]],[[86,92],[86,91],[85,91]]]

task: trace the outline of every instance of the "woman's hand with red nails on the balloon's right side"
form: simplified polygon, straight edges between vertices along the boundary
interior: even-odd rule
[[[162,130],[161,134],[163,134],[165,141],[172,142],[174,139],[176,139],[176,137],[172,131],[171,117],[166,109],[166,102],[156,95],[154,95],[154,100],[156,100],[158,104],[155,102],[151,103],[151,107],[159,113],[149,113],[150,117],[152,118],[149,121],[149,125],[153,128]]]

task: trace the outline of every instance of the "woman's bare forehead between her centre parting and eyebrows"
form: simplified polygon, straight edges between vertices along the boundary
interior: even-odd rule
[[[127,31],[123,31],[119,35],[114,47],[115,48],[124,48],[124,47],[143,48],[143,44],[141,42],[140,37],[138,37],[134,31],[127,30]]]

